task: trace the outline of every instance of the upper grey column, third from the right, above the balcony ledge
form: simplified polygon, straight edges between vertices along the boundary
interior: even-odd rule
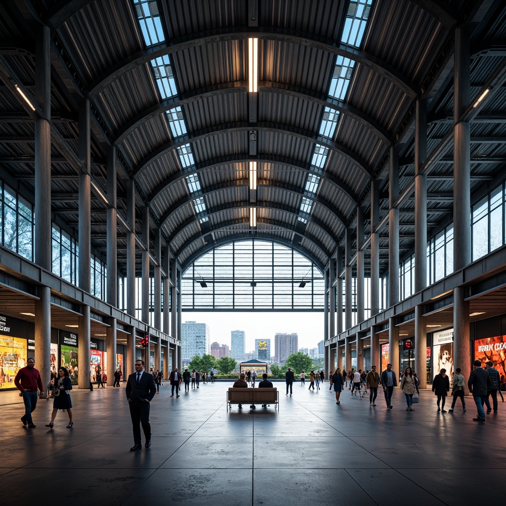
[[[389,222],[388,222],[388,305],[399,302],[399,209],[394,207],[399,198],[399,158],[394,147],[389,160]],[[394,364],[392,363],[392,366]],[[396,371],[397,372],[397,371]]]

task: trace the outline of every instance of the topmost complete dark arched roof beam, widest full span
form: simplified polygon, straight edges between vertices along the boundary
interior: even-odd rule
[[[394,85],[400,88],[411,99],[414,99],[419,91],[414,83],[403,75],[402,72],[381,58],[378,58],[370,53],[366,53],[360,49],[336,43],[332,39],[319,35],[282,27],[263,27],[261,29],[256,29],[255,31],[247,27],[225,27],[218,30],[201,31],[195,35],[195,38],[190,38],[189,36],[181,37],[180,39],[172,40],[170,43],[158,44],[127,56],[116,65],[112,65],[107,72],[99,76],[91,83],[89,92],[90,96],[97,96],[122,75],[130,72],[140,65],[150,62],[154,58],[184,51],[197,46],[223,43],[229,40],[245,40],[249,37],[257,37],[264,40],[274,40],[276,42],[296,44],[300,46],[309,46],[320,51],[350,58],[351,60],[370,68],[374,72],[393,82]]]

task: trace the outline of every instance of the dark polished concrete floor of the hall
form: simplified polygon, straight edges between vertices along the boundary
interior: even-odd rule
[[[501,402],[480,424],[472,398],[465,413],[438,413],[424,391],[406,412],[399,390],[388,410],[383,395],[369,407],[346,390],[337,406],[328,382],[319,392],[296,384],[291,397],[277,383],[279,411],[227,413],[229,386],[201,385],[177,399],[165,384],[151,403],[152,446],[143,441],[137,452],[129,451],[124,388],[72,391],[74,427],[60,411],[53,430],[45,427],[52,401],[38,402],[37,427],[27,429],[17,393],[0,392],[1,503],[466,506],[505,498]]]

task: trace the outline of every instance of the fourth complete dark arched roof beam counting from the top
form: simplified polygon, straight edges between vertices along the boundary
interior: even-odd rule
[[[304,163],[299,160],[294,160],[292,158],[286,158],[276,155],[257,155],[257,156],[228,155],[222,156],[220,158],[215,158],[214,160],[204,161],[197,165],[192,165],[191,167],[186,167],[182,171],[173,174],[172,176],[168,177],[165,181],[162,181],[159,185],[157,185],[155,189],[149,194],[148,202],[151,203],[161,192],[165,191],[173,183],[180,181],[181,179],[185,178],[190,174],[200,174],[201,172],[209,171],[212,168],[219,165],[232,164],[232,163],[247,163],[248,161],[289,165],[300,171],[304,171],[307,174],[310,173],[316,174],[320,178],[334,185],[336,188],[342,191],[355,205],[358,205],[358,195],[339,178],[332,176],[331,174],[325,172],[321,168],[313,167],[309,163]]]

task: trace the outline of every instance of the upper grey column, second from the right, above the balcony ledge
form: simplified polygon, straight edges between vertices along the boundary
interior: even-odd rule
[[[421,174],[427,159],[427,103],[416,101],[414,136],[414,291],[427,286],[427,176]]]

